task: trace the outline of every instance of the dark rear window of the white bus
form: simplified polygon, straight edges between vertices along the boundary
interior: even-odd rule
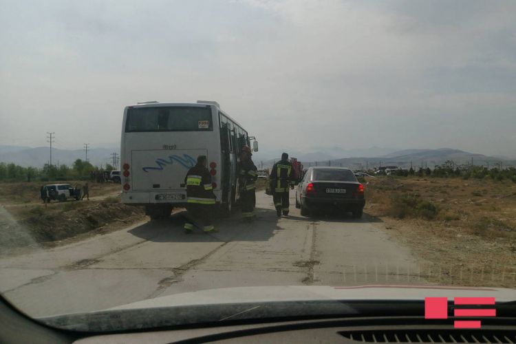
[[[212,131],[211,107],[137,107],[127,110],[125,132]]]

